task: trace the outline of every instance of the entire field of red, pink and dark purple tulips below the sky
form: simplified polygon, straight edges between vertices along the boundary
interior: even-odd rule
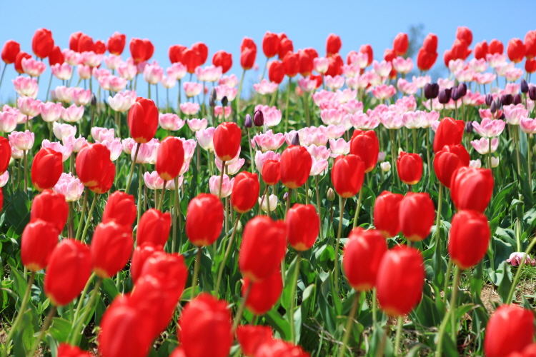
[[[66,40],[1,51],[1,357],[536,356],[536,31]]]

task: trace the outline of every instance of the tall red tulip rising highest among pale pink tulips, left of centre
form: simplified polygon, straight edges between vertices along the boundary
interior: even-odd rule
[[[151,99],[139,96],[129,110],[130,136],[139,144],[154,138],[158,129],[158,108]]]

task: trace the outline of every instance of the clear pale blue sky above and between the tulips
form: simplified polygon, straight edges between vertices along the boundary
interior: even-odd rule
[[[473,32],[473,46],[482,39],[493,38],[505,43],[513,37],[524,39],[527,31],[536,29],[532,14],[536,1],[315,1],[315,0],[220,0],[220,1],[3,1],[0,21],[0,44],[8,39],[19,41],[21,49],[31,53],[34,31],[45,27],[52,31],[54,41],[63,49],[69,35],[84,31],[93,39],[106,41],[119,31],[127,36],[123,58],[129,56],[131,37],[151,39],[155,51],[153,59],[161,66],[169,66],[167,50],[172,44],[190,46],[204,41],[209,47],[209,61],[219,49],[233,55],[232,73],[239,76],[239,46],[244,36],[257,42],[257,63],[262,69],[262,36],[266,31],[284,31],[294,42],[294,49],[314,47],[322,56],[330,33],[342,39],[341,53],[345,57],[361,44],[371,44],[374,57],[380,59],[384,49],[392,46],[392,39],[410,26],[423,24],[424,32],[439,37],[440,58],[436,66],[443,66],[442,54],[455,39],[457,26],[469,26]],[[515,9],[515,11],[512,11]],[[46,61],[48,64],[48,61]],[[4,66],[3,62],[0,62]],[[250,71],[247,85],[254,81]],[[40,81],[39,98],[44,96],[49,80],[49,69]],[[16,72],[10,65],[1,89],[1,98],[13,98],[11,79]],[[258,78],[258,74],[257,74]],[[52,88],[59,85],[54,79]],[[140,87],[140,86],[139,86]],[[145,87],[145,88],[144,88]],[[172,89],[175,94],[177,89]],[[144,95],[147,87],[139,88]],[[175,95],[172,98],[176,98]]]

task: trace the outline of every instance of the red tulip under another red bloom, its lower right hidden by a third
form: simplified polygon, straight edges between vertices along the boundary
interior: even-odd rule
[[[450,188],[452,174],[462,166],[469,166],[470,156],[462,145],[445,146],[435,154],[434,171],[443,186]]]

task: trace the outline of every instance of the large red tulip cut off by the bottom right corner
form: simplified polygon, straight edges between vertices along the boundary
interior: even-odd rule
[[[487,357],[511,356],[534,339],[534,313],[517,305],[502,305],[487,321],[484,352]]]

